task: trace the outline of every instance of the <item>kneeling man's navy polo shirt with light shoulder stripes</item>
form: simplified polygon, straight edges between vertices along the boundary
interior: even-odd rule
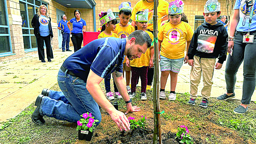
[[[102,78],[115,70],[122,73],[125,45],[125,38],[96,39],[70,55],[62,66],[84,81],[87,81],[90,69]]]

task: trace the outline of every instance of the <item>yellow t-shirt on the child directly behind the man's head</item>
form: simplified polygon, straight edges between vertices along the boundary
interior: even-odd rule
[[[145,31],[149,34],[152,41],[154,40],[154,36],[150,31]],[[151,46],[153,47],[153,46]],[[143,66],[149,66],[150,61],[150,49],[147,49],[145,54],[142,54],[140,58],[135,58],[132,61],[130,61],[130,66],[134,67],[143,67]]]

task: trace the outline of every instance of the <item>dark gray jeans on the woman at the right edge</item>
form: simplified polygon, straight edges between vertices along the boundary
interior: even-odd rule
[[[248,105],[251,96],[255,90],[255,73],[256,73],[256,34],[254,34],[254,43],[243,43],[243,34],[235,33],[233,55],[228,56],[225,79],[227,93],[234,93],[236,74],[243,62],[243,95],[242,104]]]

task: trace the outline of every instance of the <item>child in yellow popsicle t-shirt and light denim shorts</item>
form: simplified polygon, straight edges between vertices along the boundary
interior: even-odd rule
[[[187,52],[190,41],[193,36],[191,26],[182,19],[184,3],[179,0],[169,4],[169,21],[165,23],[158,33],[158,51],[161,67],[160,94],[159,98],[165,99],[165,85],[167,78],[171,76],[171,90],[169,100],[175,100],[175,88],[177,84],[178,73],[181,69],[183,60],[188,62],[185,48],[187,42]],[[178,8],[177,8],[178,7]],[[176,9],[177,8],[177,9]]]

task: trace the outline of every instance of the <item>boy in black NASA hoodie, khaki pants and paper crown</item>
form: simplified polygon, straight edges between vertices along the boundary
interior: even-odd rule
[[[206,108],[211,95],[213,84],[213,70],[221,69],[226,60],[227,31],[222,23],[216,21],[221,14],[218,0],[208,0],[204,6],[205,23],[200,25],[191,40],[188,57],[189,65],[192,66],[190,72],[190,99],[189,104],[195,105],[197,98],[198,84],[201,73],[203,73],[202,101],[199,106]],[[218,62],[216,62],[218,58]]]

